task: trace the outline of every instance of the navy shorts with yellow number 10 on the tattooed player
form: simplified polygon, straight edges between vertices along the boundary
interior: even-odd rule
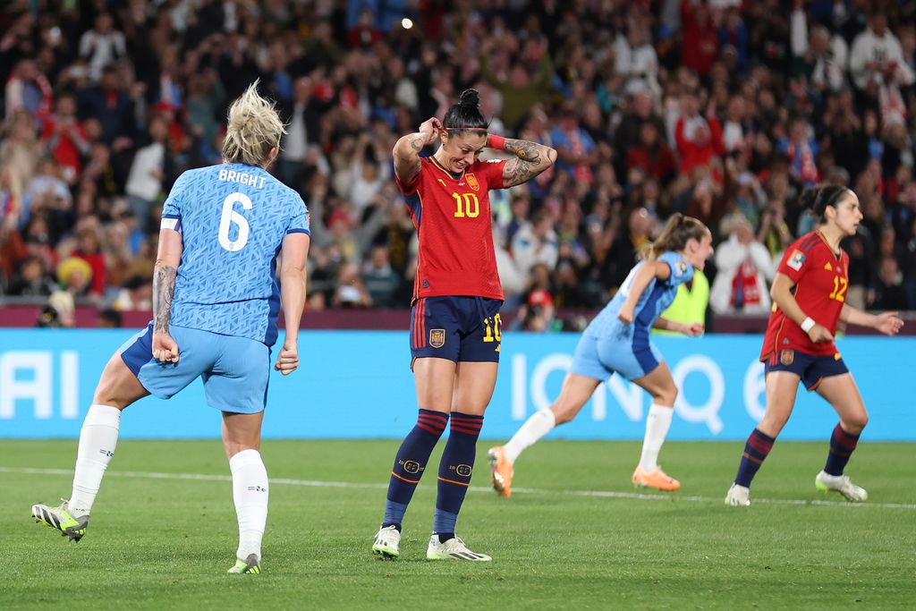
[[[498,363],[502,339],[500,300],[423,297],[410,309],[410,356],[455,363]],[[411,367],[413,360],[410,361]]]

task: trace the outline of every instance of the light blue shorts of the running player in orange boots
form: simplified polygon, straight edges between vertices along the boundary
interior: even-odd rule
[[[645,337],[636,333],[632,339],[627,334],[602,338],[583,335],[576,344],[570,373],[603,382],[616,372],[635,380],[650,374],[661,361],[661,353],[649,341],[648,333]]]

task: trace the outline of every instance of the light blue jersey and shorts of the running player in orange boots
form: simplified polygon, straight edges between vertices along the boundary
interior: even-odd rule
[[[661,353],[649,340],[649,330],[661,312],[671,305],[678,287],[693,278],[693,267],[671,251],[663,253],[658,260],[671,268],[671,276],[649,282],[639,296],[633,322],[624,324],[617,319],[617,313],[627,300],[633,279],[644,262],[633,267],[614,299],[598,312],[579,339],[570,368],[573,374],[604,381],[616,372],[628,380],[635,380],[659,366]]]

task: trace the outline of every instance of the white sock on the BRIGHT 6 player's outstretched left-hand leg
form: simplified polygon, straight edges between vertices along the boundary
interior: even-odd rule
[[[121,410],[108,405],[90,406],[86,413],[76,453],[73,491],[67,502],[71,516],[89,515],[93,508],[105,469],[114,456],[120,424]]]

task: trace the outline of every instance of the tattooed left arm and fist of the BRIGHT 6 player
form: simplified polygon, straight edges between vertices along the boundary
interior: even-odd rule
[[[181,234],[174,229],[159,230],[159,248],[153,270],[153,358],[178,363],[178,344],[169,334],[171,302],[181,261]]]

